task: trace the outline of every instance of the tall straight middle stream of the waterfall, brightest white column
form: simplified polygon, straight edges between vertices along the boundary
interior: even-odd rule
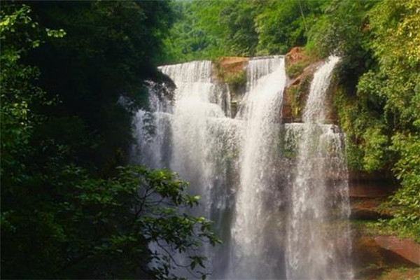
[[[262,233],[269,221],[265,209],[275,181],[278,138],[286,73],[283,57],[251,59],[247,92],[237,118],[244,120],[239,154],[240,184],[232,225],[230,278],[273,278],[275,264],[267,258]]]

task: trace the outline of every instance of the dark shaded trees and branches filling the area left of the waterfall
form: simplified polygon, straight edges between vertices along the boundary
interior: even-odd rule
[[[200,197],[165,170],[116,169],[130,137],[110,136],[131,132],[119,94],[137,108],[144,79],[164,79],[146,50],[158,51],[167,8],[2,3],[2,278],[177,279],[174,252],[206,276],[198,248],[218,239],[184,213]]]

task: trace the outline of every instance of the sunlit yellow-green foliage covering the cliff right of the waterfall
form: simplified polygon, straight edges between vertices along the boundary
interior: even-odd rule
[[[367,18],[356,21],[363,27],[356,41],[364,50],[356,53],[356,59],[369,63],[356,72],[356,77],[364,72],[356,90],[346,85],[336,96],[350,163],[367,171],[392,167],[401,187],[386,204],[397,209],[388,225],[417,241],[420,54],[414,45],[419,33],[413,30],[420,29],[419,4],[418,0],[380,1],[364,13]],[[366,55],[371,58],[365,59]]]

